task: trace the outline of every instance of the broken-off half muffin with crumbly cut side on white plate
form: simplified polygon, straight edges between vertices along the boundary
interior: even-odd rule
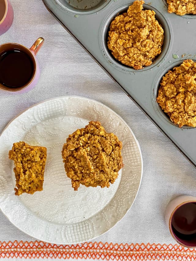
[[[46,157],[45,147],[30,146],[24,141],[13,144],[12,150],[9,151],[9,159],[12,159],[15,165],[15,195],[19,196],[24,192],[33,194],[43,190]]]

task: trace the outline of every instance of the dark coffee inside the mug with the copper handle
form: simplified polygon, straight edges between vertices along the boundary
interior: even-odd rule
[[[18,88],[27,84],[33,73],[32,59],[24,51],[9,50],[0,54],[0,84]]]

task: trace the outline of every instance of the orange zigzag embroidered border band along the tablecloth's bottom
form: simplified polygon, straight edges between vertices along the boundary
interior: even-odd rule
[[[0,258],[5,259],[85,259],[85,260],[196,260],[196,250],[178,244],[112,244],[89,242],[56,245],[34,242],[0,242]]]

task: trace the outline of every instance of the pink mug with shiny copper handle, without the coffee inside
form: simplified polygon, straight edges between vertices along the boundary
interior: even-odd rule
[[[4,43],[4,44],[0,45],[0,55],[1,55],[1,53],[5,53],[6,51],[20,50],[20,51],[25,52],[33,63],[32,76],[25,85],[17,87],[17,88],[11,88],[11,87],[8,87],[8,86],[0,83],[0,90],[8,91],[12,94],[15,94],[15,93],[24,93],[24,92],[30,91],[32,88],[34,88],[36,86],[36,84],[40,78],[40,69],[39,69],[39,64],[37,62],[36,54],[40,50],[41,46],[43,45],[43,42],[44,42],[44,39],[42,37],[40,37],[35,41],[35,43],[29,49],[19,43]]]

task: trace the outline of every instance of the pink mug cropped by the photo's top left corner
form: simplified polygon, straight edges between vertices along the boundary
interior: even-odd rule
[[[9,0],[0,0],[0,35],[7,32],[13,23],[13,8]]]

